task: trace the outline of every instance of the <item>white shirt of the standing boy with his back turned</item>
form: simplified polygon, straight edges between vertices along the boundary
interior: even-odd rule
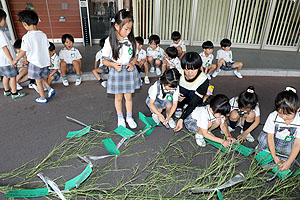
[[[21,50],[26,51],[28,62],[37,67],[50,66],[50,54],[47,36],[42,31],[28,31],[22,37]]]

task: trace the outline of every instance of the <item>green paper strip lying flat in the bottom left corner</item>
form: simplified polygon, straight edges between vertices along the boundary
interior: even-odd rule
[[[6,198],[34,198],[43,197],[49,194],[48,188],[28,189],[28,190],[11,190]]]

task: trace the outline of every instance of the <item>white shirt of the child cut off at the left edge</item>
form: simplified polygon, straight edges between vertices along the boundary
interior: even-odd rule
[[[5,46],[9,50],[9,53],[10,53],[12,59],[14,59],[16,57],[15,50],[14,50],[13,46],[11,45],[9,39],[5,35],[5,33],[2,30],[0,30],[0,47],[1,47],[0,48],[0,67],[11,65],[11,62],[9,61],[8,57],[5,55],[5,53],[2,49],[2,47],[5,47]]]

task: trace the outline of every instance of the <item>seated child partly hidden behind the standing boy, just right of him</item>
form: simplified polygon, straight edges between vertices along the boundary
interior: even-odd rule
[[[60,59],[55,53],[55,45],[49,42],[49,53],[51,57],[51,64],[49,66],[48,84],[50,85],[52,81],[58,81],[60,77]]]

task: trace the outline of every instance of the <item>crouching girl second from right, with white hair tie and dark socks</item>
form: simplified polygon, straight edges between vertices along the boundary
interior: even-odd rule
[[[240,138],[246,138],[249,142],[254,142],[251,135],[260,123],[260,110],[258,106],[258,98],[253,86],[249,86],[245,91],[241,92],[238,97],[233,97],[229,101],[231,110],[228,118],[228,129],[234,131],[237,123],[242,126]]]

